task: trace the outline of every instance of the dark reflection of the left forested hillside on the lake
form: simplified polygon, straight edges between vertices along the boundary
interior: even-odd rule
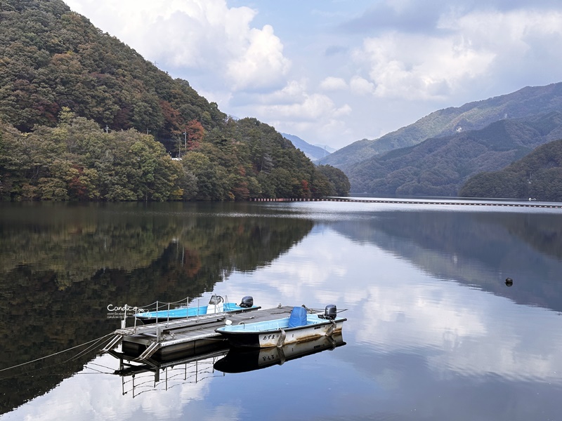
[[[107,335],[119,327],[110,305],[200,297],[235,270],[269,265],[313,226],[249,204],[161,205],[0,205],[0,369]],[[61,378],[0,381],[0,410]]]

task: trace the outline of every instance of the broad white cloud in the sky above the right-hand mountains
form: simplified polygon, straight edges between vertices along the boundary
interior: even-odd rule
[[[436,29],[432,35],[387,32],[363,41],[354,58],[366,66],[375,95],[445,99],[467,91],[473,81],[492,76],[492,70],[493,77],[504,74],[509,79],[509,72],[532,66],[528,55],[538,46],[559,45],[562,13],[447,14],[440,17]],[[553,38],[557,42],[552,42]],[[554,51],[545,55],[555,58]]]

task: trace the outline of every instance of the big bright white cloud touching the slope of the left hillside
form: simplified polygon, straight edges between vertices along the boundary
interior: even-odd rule
[[[224,0],[70,0],[69,6],[164,69],[194,69],[233,89],[276,87],[290,60],[273,27],[251,28],[256,11]]]

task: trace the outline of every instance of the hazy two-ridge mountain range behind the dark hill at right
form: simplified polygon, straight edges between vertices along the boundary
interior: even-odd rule
[[[456,196],[481,171],[497,171],[562,138],[562,83],[447,108],[320,159],[340,168],[351,192]]]

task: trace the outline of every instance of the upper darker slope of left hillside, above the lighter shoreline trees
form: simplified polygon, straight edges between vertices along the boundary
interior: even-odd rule
[[[226,115],[60,0],[3,0],[0,119],[20,131],[53,126],[63,107],[112,130],[170,140],[192,120]]]

